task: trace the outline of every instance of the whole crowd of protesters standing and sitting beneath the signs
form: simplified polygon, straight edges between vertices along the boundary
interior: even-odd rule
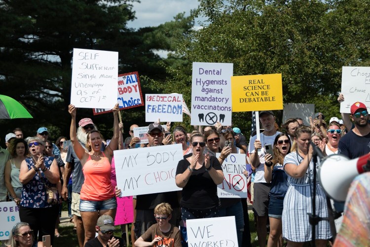
[[[340,94],[338,101],[343,100]],[[279,128],[273,111],[261,111],[262,129],[259,136],[251,136],[249,144],[240,128],[220,123],[194,126],[194,130],[183,126],[171,129],[170,123],[164,129],[160,123],[152,123],[148,125],[148,144],[140,145],[140,139],[134,136],[136,124],[130,126],[130,137],[123,139],[116,105],[112,109],[113,136],[106,145],[91,119],[81,119],[77,124],[74,105],[69,106],[69,112],[70,143],[60,136],[54,144],[48,139],[46,127],[38,128],[36,136],[26,139],[20,128],[5,136],[7,149],[0,147],[3,178],[0,202],[14,201],[22,221],[11,230],[8,246],[37,246],[44,235],[50,235],[53,243],[54,237],[60,236],[58,224],[63,201],[68,202],[80,247],[126,246],[124,238],[110,238],[116,197],[120,195],[120,189],[115,188],[113,151],[171,144],[182,145],[184,159],[173,164],[177,166],[176,185],[182,191],[133,195],[133,246],[160,243],[185,247],[186,220],[221,216],[235,216],[238,246],[251,246],[249,219],[245,218],[246,199],[217,196],[217,185],[224,179],[222,163],[230,154],[244,154],[246,164],[252,166],[253,212],[259,246],[283,246],[284,241],[289,247],[303,246],[312,238],[307,213],[312,213],[313,186],[316,214],[328,217],[326,195],[319,183],[312,182],[313,170],[320,165],[320,159],[317,164],[313,162],[310,141],[324,156],[342,154],[354,159],[370,153],[370,119],[367,106],[361,102],[354,103],[350,114],[342,114],[341,120],[333,117],[328,121],[329,118],[317,113],[308,126],[297,118],[288,119]],[[266,152],[266,145],[271,145],[273,154]],[[218,158],[216,153],[220,153]],[[47,191],[53,188],[55,200],[49,200]],[[334,209],[341,212],[344,205],[334,204]],[[125,234],[124,226],[121,227]],[[332,236],[329,221],[320,221],[316,226],[316,246],[326,246]]]

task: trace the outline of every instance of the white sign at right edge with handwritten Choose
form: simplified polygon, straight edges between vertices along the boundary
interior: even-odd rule
[[[362,102],[370,111],[370,67],[343,67],[342,89],[344,101],[340,103],[341,113],[350,113],[351,106]]]

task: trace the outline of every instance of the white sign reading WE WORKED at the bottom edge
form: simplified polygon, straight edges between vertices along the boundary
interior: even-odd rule
[[[237,247],[235,216],[186,220],[189,247]]]

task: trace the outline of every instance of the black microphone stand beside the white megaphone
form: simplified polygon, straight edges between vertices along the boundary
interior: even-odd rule
[[[324,158],[323,153],[321,150],[312,142],[310,141],[310,144],[313,148],[313,155],[312,155],[312,162],[313,162],[313,189],[312,189],[312,213],[308,213],[308,222],[312,226],[312,238],[311,238],[311,246],[315,245],[316,240],[316,225],[319,224],[322,220],[329,220],[329,218],[323,218],[316,215],[316,165],[317,165],[317,157],[319,157],[321,160]],[[329,200],[328,200],[329,201]],[[329,201],[330,202],[330,201]]]

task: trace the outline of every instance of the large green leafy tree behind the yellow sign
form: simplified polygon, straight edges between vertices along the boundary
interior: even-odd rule
[[[233,63],[235,76],[281,73],[284,102],[316,103],[316,111],[338,116],[342,66],[370,63],[366,2],[200,0],[197,14],[207,22],[176,41],[171,57],[183,63],[164,65],[167,83],[152,85],[189,103],[192,62]],[[250,131],[250,113],[233,119]]]

